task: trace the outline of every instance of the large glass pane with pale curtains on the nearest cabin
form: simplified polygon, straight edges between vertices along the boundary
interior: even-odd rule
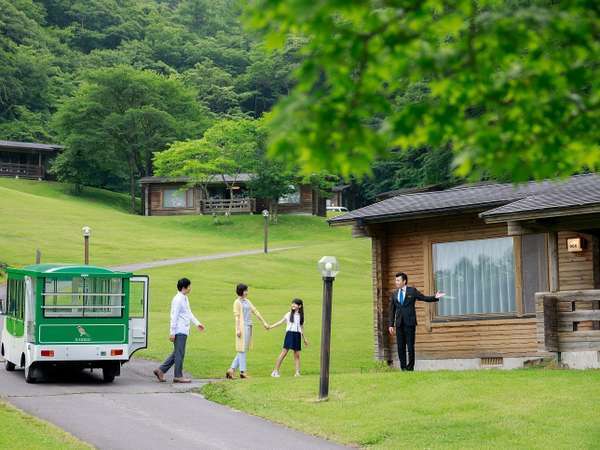
[[[513,239],[478,239],[433,244],[435,289],[446,296],[438,316],[513,313]]]

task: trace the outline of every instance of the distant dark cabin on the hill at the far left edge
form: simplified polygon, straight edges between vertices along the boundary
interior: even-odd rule
[[[63,147],[33,142],[0,141],[0,176],[48,179],[48,167]]]

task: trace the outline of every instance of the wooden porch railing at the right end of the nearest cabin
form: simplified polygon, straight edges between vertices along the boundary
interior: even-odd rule
[[[600,289],[535,294],[538,349],[600,350]]]

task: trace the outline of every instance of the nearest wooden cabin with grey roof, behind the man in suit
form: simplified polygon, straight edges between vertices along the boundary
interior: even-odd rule
[[[370,237],[375,357],[395,273],[417,302],[416,368],[517,368],[555,358],[600,367],[600,176],[398,195],[330,220]]]

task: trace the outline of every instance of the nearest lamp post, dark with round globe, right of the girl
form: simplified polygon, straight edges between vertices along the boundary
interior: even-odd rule
[[[339,272],[339,264],[334,256],[323,256],[319,260],[319,271],[323,276],[323,318],[321,327],[321,378],[319,400],[329,396],[329,355],[331,348],[331,300],[333,281]]]

